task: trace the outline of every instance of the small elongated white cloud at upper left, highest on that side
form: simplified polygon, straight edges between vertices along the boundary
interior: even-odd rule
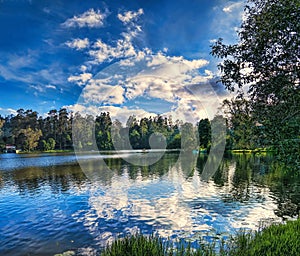
[[[107,17],[107,12],[102,13],[100,10],[90,9],[79,16],[67,19],[62,26],[64,27],[90,27],[97,28],[104,25],[104,19]]]

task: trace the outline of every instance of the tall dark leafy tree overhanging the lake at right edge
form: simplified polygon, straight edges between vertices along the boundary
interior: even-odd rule
[[[248,0],[239,42],[219,39],[212,54],[223,58],[227,89],[248,88],[253,118],[278,155],[300,166],[300,1]]]

